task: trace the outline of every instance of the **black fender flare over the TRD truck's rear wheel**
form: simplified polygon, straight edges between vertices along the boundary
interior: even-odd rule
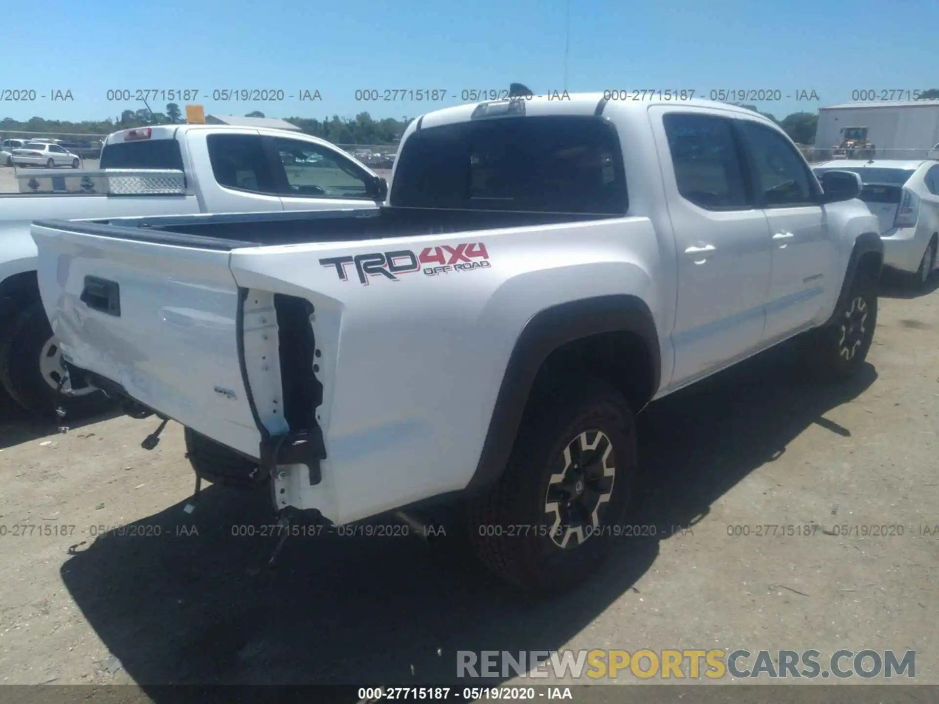
[[[563,344],[604,332],[633,332],[641,337],[652,359],[654,395],[661,381],[662,357],[652,311],[641,298],[627,295],[580,298],[532,315],[509,356],[483,451],[466,494],[478,494],[500,479],[515,444],[531,387],[548,355]]]

